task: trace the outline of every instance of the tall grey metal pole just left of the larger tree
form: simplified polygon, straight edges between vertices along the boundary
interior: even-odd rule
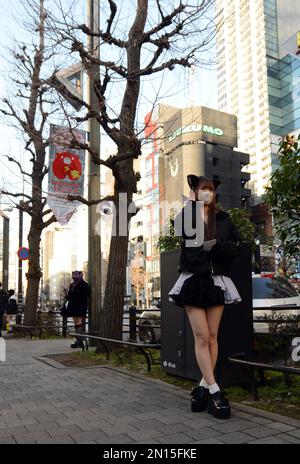
[[[100,1],[88,1],[88,26],[90,31],[97,33],[100,23]],[[89,36],[89,52],[95,57],[100,57],[100,39],[99,37]],[[92,79],[89,79],[89,104],[92,111],[99,113],[100,104],[97,97],[94,83],[100,81],[100,68],[98,64],[93,63]],[[100,156],[100,125],[95,118],[89,122],[90,147]],[[95,200],[100,196],[100,165],[93,162],[89,154],[88,161],[88,199]],[[101,238],[99,232],[96,233],[96,224],[100,219],[97,212],[97,205],[89,206],[89,260],[88,260],[88,280],[91,289],[90,313],[89,313],[89,331],[97,332],[99,330],[99,320],[101,311]]]

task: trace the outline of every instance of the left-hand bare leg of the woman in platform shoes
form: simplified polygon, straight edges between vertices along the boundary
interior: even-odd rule
[[[209,351],[209,328],[205,309],[185,306],[195,340],[195,354],[199,369],[208,385],[215,383]]]

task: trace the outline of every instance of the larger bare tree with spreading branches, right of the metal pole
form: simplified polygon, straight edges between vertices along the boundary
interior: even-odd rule
[[[99,101],[99,112],[92,111],[90,105],[82,101],[86,113],[77,117],[76,121],[83,123],[95,118],[117,147],[116,155],[103,160],[88,145],[80,146],[90,152],[94,163],[111,169],[115,179],[114,195],[110,199],[115,205],[116,233],[111,237],[103,316],[99,327],[103,336],[122,337],[128,236],[120,234],[119,198],[120,194],[127,195],[128,208],[133,194],[137,193],[137,181],[140,179],[140,174],[134,171],[133,161],[141,155],[144,130],[137,124],[141,84],[160,74],[167,79],[167,73],[178,67],[205,64],[206,52],[215,36],[211,14],[213,3],[213,0],[187,3],[136,0],[132,22],[128,26],[128,17],[126,24],[121,21],[122,12],[117,3],[103,1],[101,11],[107,13],[107,20],[99,33],[91,31],[86,24],[72,23],[68,14],[62,21],[52,17],[53,31],[80,58]],[[61,2],[60,6],[63,11]],[[84,36],[91,35],[100,39],[100,59],[85,46]],[[94,78],[92,70],[95,64],[100,68],[100,79]],[[79,197],[73,199],[86,204],[103,200],[95,198],[88,202]],[[133,214],[135,212],[128,211],[126,215],[127,230]]]

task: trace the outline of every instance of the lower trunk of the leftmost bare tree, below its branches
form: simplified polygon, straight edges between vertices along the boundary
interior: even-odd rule
[[[42,277],[40,267],[41,234],[42,230],[36,226],[33,220],[28,235],[28,246],[30,251],[28,273],[26,274],[28,285],[24,308],[24,325],[35,325],[36,323],[39,286]]]

